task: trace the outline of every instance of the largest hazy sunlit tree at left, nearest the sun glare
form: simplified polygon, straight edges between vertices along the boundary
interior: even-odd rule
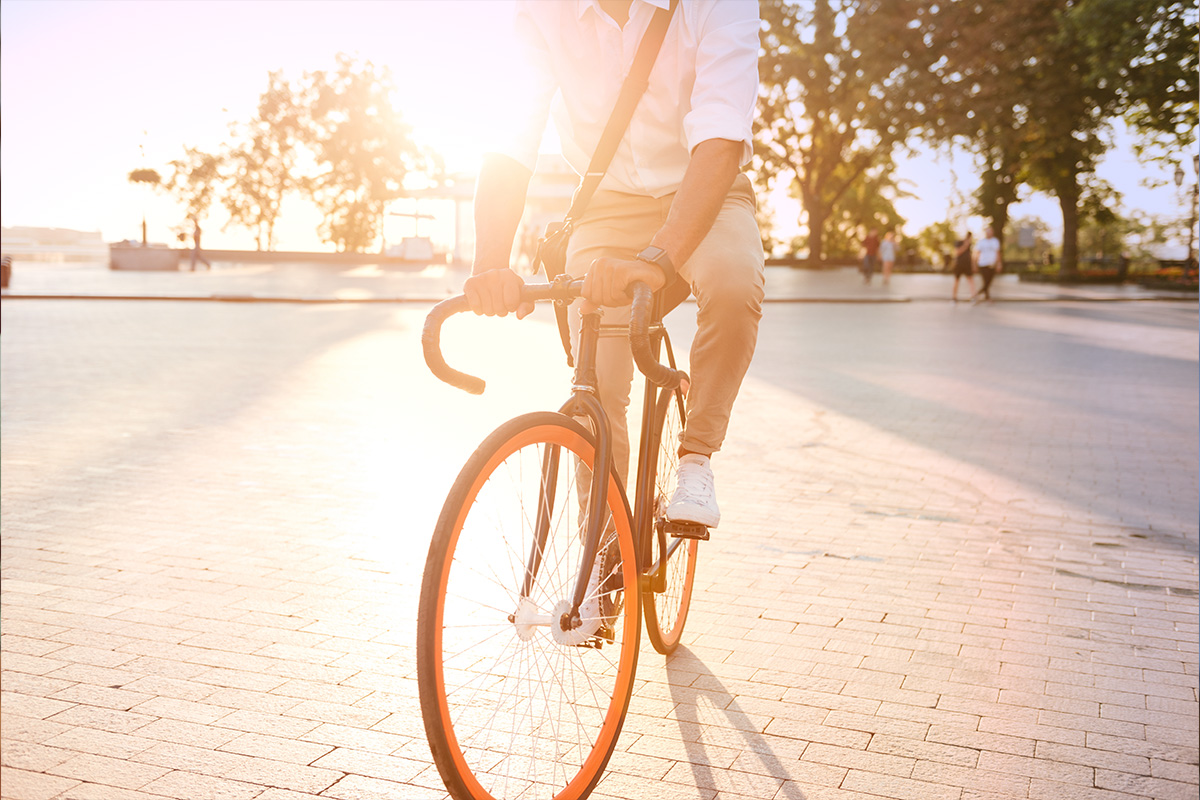
[[[316,158],[305,188],[325,215],[325,241],[362,252],[379,236],[388,203],[401,196],[418,148],[391,104],[388,70],[338,54],[335,72],[306,73],[305,82],[304,137]]]

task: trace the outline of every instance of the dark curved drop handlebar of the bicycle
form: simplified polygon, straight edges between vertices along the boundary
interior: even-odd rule
[[[583,281],[524,284],[521,289],[521,300],[522,302],[544,300],[570,302],[580,296],[582,288]],[[650,309],[654,306],[654,293],[641,282],[634,283],[630,289],[634,303],[630,308],[629,343],[634,351],[634,361],[650,383],[659,386],[676,386],[680,380],[686,379],[686,374],[659,363],[650,354],[649,320]],[[421,348],[425,350],[425,363],[438,379],[472,395],[482,395],[486,386],[482,379],[458,372],[450,367],[442,356],[442,323],[449,317],[466,311],[470,311],[466,295],[450,297],[434,306],[428,317],[425,318]]]

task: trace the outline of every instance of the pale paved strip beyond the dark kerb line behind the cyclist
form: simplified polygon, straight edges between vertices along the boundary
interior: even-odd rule
[[[174,297],[196,300],[287,300],[294,302],[426,302],[456,294],[466,267],[431,265],[396,267],[332,264],[228,264],[202,272],[113,271],[104,264],[17,264],[6,297]],[[899,273],[889,287],[875,276],[863,285],[851,269],[767,269],[770,302],[910,302],[950,299],[953,278],[934,273]],[[966,285],[960,287],[967,299]],[[1024,283],[1001,275],[992,289],[997,301],[1196,300],[1175,293],[1124,285],[1058,285]]]

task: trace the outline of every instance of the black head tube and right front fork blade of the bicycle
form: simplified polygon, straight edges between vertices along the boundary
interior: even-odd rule
[[[560,409],[568,416],[582,416],[592,421],[596,438],[595,462],[592,465],[592,485],[588,491],[587,529],[583,536],[583,558],[580,575],[575,582],[575,595],[571,597],[571,609],[563,615],[559,624],[564,631],[577,628],[580,607],[588,591],[588,578],[600,549],[600,535],[604,530],[605,498],[608,491],[608,476],[612,475],[612,439],[608,428],[608,416],[600,404],[599,380],[596,375],[596,343],[600,339],[600,312],[583,314],[580,327],[580,347],[575,360],[575,379],[571,397]]]

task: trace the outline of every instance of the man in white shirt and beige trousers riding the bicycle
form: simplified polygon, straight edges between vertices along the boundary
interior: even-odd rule
[[[668,0],[518,0],[516,32],[528,60],[516,128],[485,157],[475,193],[475,255],[463,291],[472,311],[523,317],[509,257],[551,103],[563,155],[583,173],[637,43]],[[758,90],[756,0],[679,0],[649,86],[593,197],[575,224],[566,269],[586,275],[584,302],[605,324],[628,323],[628,287],[685,281],[696,296],[688,423],[679,444],[677,522],[715,527],[710,456],[750,366],[762,317],[763,252],[750,180]],[[578,319],[571,314],[577,341]],[[605,337],[599,392],[612,422],[613,457],[628,483],[629,342]]]

